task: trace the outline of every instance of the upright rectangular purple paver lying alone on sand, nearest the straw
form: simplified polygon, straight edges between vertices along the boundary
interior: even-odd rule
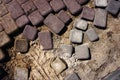
[[[49,50],[53,48],[52,36],[50,31],[39,32],[38,37],[43,50]]]

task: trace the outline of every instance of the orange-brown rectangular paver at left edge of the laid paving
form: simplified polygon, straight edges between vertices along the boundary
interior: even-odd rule
[[[7,34],[11,34],[18,29],[15,21],[9,14],[2,18],[2,26]]]

